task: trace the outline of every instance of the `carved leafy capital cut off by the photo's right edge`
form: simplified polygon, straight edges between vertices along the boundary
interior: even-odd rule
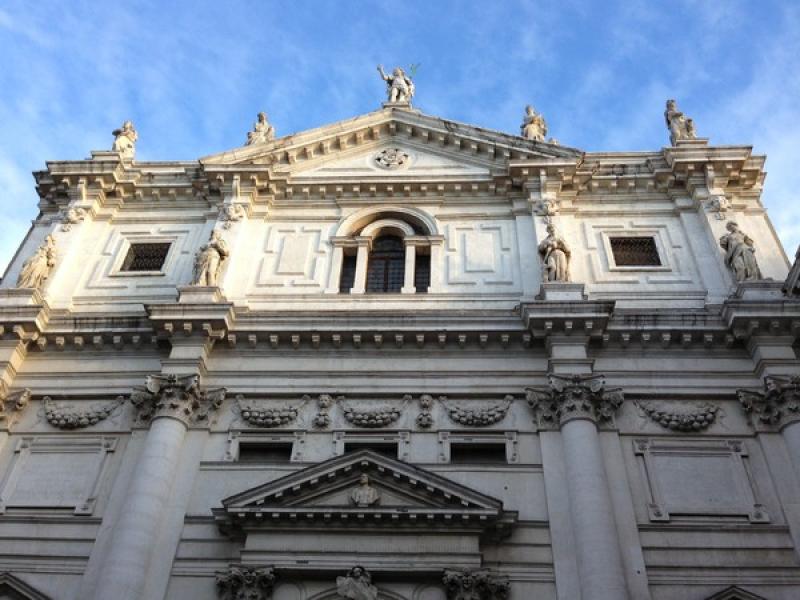
[[[767,375],[764,391],[736,390],[754,427],[781,429],[800,421],[800,377]]]

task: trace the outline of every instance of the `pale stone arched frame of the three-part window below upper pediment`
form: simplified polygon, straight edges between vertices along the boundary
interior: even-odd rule
[[[408,220],[417,224],[418,229],[427,230],[428,235],[420,235]],[[349,231],[348,231],[349,230]],[[428,215],[422,215],[407,208],[373,209],[370,213],[359,211],[345,219],[336,235],[331,237],[333,258],[328,281],[328,293],[340,293],[342,264],[346,255],[356,256],[355,279],[350,289],[351,295],[366,293],[367,268],[372,243],[382,235],[393,235],[403,240],[405,247],[405,268],[401,294],[415,294],[417,254],[426,252],[431,257],[431,279],[427,292],[437,293],[441,290],[440,264],[444,246],[444,236],[436,235],[435,224]],[[352,233],[351,233],[352,232]]]

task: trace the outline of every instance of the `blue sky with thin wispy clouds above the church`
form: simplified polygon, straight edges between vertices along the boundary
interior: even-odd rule
[[[108,149],[132,119],[141,160],[284,135],[375,110],[375,66],[420,63],[416,106],[516,133],[525,104],[589,151],[667,143],[678,99],[712,144],[767,159],[763,200],[800,242],[800,4],[0,2],[0,271],[36,216],[31,171]]]

